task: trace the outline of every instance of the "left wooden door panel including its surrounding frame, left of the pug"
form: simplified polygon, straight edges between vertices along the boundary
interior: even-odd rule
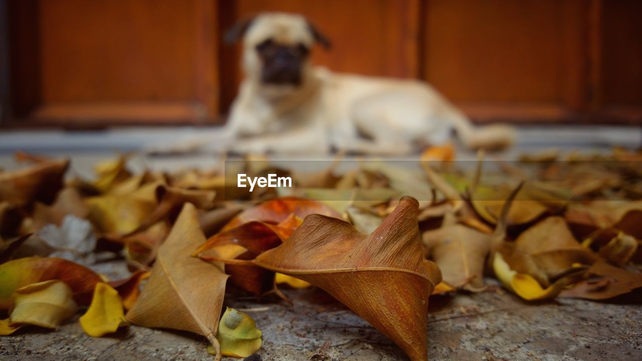
[[[13,48],[35,47],[12,53],[14,94],[25,92],[26,73],[37,86],[17,100],[19,112],[85,122],[217,114],[212,1],[16,3],[10,4],[13,19],[28,21],[31,29],[13,22]],[[24,31],[30,31],[27,42]]]

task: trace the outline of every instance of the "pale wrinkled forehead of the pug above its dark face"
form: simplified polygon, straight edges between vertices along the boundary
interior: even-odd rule
[[[254,19],[245,36],[245,44],[253,46],[266,39],[286,45],[311,46],[314,42],[306,19],[286,13],[264,14]]]

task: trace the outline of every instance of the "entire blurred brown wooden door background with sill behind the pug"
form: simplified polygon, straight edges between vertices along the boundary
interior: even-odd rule
[[[558,125],[553,143],[592,125],[639,146],[638,0],[0,0],[0,151],[135,149],[223,124],[242,74],[222,35],[270,10],[324,31],[333,48],[313,59],[334,71],[426,80],[478,123]]]

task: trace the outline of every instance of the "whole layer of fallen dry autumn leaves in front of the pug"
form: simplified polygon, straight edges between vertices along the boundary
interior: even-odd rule
[[[528,301],[642,287],[641,154],[480,158],[472,170],[452,158],[446,147],[416,169],[270,167],[295,188],[249,193],[214,171],[132,174],[128,156],[85,180],[65,178],[67,159],[17,154],[30,166],[0,172],[0,335],[56,328],[87,306],[79,320],[92,337],[131,322],[247,357],[261,331],[223,312],[226,291],[288,301],[277,285],[314,285],[426,360],[431,294],[488,290],[485,276]],[[243,172],[268,171],[256,164]],[[130,276],[101,274],[114,259]]]

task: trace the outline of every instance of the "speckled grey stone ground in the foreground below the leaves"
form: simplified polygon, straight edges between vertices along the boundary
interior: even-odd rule
[[[229,298],[263,330],[263,360],[393,361],[403,351],[320,290],[286,290],[294,306]],[[642,306],[560,299],[529,304],[491,286],[433,296],[428,360],[642,360]],[[255,310],[252,310],[255,309]],[[209,360],[203,337],[132,326],[96,339],[72,321],[0,338],[0,360]],[[229,358],[229,360],[233,360]]]

